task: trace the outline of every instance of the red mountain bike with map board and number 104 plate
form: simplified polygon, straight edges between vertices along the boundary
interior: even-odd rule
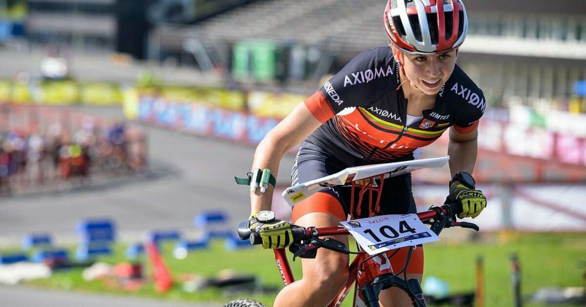
[[[350,274],[345,285],[328,307],[339,307],[352,287],[355,287],[353,307],[379,307],[380,291],[390,287],[398,287],[407,292],[413,306],[427,306],[420,282],[416,278],[410,280],[406,278],[407,265],[414,246],[439,240],[437,235],[448,227],[464,227],[478,231],[478,226],[468,222],[456,222],[455,215],[461,212],[462,208],[455,203],[448,203],[439,207],[432,206],[428,211],[411,215],[378,215],[377,213],[380,212],[380,192],[385,178],[423,167],[441,167],[442,162],[445,164],[445,161],[447,161],[446,158],[442,157],[441,161],[431,161],[432,166],[425,164],[430,159],[423,159],[427,161],[418,161],[415,163],[416,165],[413,165],[413,161],[407,161],[406,163],[388,163],[384,164],[383,167],[381,167],[382,164],[379,164],[352,169],[347,168],[340,172],[344,173],[341,177],[340,173],[336,173],[319,180],[305,182],[285,189],[283,195],[295,196],[299,194],[299,191],[303,191],[304,195],[311,195],[314,193],[313,190],[318,187],[350,185],[353,194],[351,198],[353,202],[350,206],[352,216],[360,216],[361,206],[359,204],[362,201],[369,203],[369,218],[352,219],[351,217],[347,222],[342,222],[342,226],[301,227],[291,225],[294,243],[289,246],[289,251],[293,254],[293,260],[297,257],[315,258],[317,250],[320,248],[344,254],[356,254],[356,257],[349,265]],[[355,191],[356,198],[354,197]],[[364,199],[363,196],[367,191],[370,191],[369,197]],[[374,223],[374,226],[372,226],[373,220],[379,222]],[[425,226],[422,228],[423,223],[430,225],[429,228]],[[248,221],[240,223],[238,233],[241,239],[249,239],[252,244],[262,243],[260,234],[248,229]],[[327,237],[338,235],[352,235],[355,237],[358,251],[350,251],[344,243]],[[326,238],[321,239],[321,237]],[[391,267],[389,260],[393,254],[389,256],[387,252],[404,246],[410,246],[406,263],[400,271],[396,272]],[[278,270],[286,287],[295,281],[287,253],[285,249],[274,249],[273,251]],[[404,275],[404,278],[400,278],[401,274]],[[260,307],[265,305],[251,299],[236,299],[225,305],[225,307],[232,306]]]

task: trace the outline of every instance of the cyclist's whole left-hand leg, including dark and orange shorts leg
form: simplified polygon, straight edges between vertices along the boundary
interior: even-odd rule
[[[291,171],[292,184],[334,174],[348,165],[348,161],[342,161],[317,144],[305,140]],[[338,187],[322,189],[294,206],[293,223],[305,227],[339,226],[339,222],[346,220],[347,216],[347,208],[342,206],[346,194]],[[347,236],[335,236],[333,239],[347,246]],[[303,278],[282,289],[275,299],[275,306],[328,305],[347,279],[348,260],[347,255],[326,249],[319,249],[315,259],[302,258]]]

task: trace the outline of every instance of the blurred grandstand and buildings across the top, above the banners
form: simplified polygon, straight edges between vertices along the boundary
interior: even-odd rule
[[[205,72],[225,67],[257,81],[318,81],[386,43],[383,2],[13,0],[4,2],[0,41],[25,54],[59,46],[74,53],[72,62],[115,51]],[[584,109],[583,99],[573,99],[575,82],[586,78],[583,1],[468,0],[466,8],[471,23],[459,64],[490,104]]]

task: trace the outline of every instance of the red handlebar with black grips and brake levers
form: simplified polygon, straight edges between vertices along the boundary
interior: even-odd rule
[[[455,218],[453,216],[461,212],[461,210],[462,207],[457,205],[456,203],[447,203],[440,207],[431,207],[428,211],[419,212],[417,213],[417,216],[421,220],[421,222],[429,222],[431,219],[442,218],[443,221],[441,223],[434,223],[434,225],[432,225],[432,230],[436,233],[439,233],[442,229],[446,227],[463,227],[478,231],[478,226],[476,226],[473,223],[455,221]],[[434,229],[434,227],[436,229]],[[302,240],[307,240],[312,237],[318,236],[350,234],[350,232],[342,226],[320,227],[318,232],[318,229],[316,227],[306,228],[297,225],[291,225],[291,233],[293,235],[294,242],[300,242]],[[240,223],[238,227],[238,234],[240,236],[240,239],[242,240],[247,240],[248,238],[250,238],[250,243],[253,245],[263,243],[260,234],[252,232],[248,228],[248,221],[246,220]]]

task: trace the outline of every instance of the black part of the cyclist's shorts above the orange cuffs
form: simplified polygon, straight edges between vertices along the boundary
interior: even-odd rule
[[[401,160],[403,161],[403,160]],[[393,161],[386,161],[389,163]],[[305,140],[295,158],[295,165],[291,172],[292,185],[300,184],[327,175],[338,173],[339,171],[353,166],[373,164],[369,161],[356,159],[351,163],[345,163],[334,154],[322,149],[311,140]],[[322,193],[333,196],[342,206],[345,215],[350,214],[350,198],[352,197],[352,188],[349,186],[335,186],[321,189]],[[318,192],[318,194],[319,194]],[[365,218],[369,214],[369,192],[363,196],[360,216],[355,218]],[[355,199],[357,201],[357,191]],[[314,196],[311,196],[311,199]],[[373,195],[376,199],[376,195]],[[319,211],[319,210],[317,210]],[[415,199],[411,192],[411,174],[398,175],[397,177],[387,178],[383,184],[383,191],[380,201],[380,215],[385,214],[407,214],[416,213]],[[343,220],[346,220],[345,218]]]

